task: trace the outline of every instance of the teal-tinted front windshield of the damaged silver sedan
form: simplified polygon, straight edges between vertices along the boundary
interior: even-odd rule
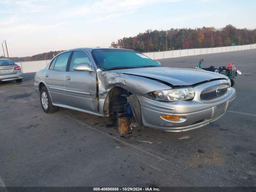
[[[92,56],[98,67],[104,70],[160,66],[154,60],[133,50],[95,49]]]

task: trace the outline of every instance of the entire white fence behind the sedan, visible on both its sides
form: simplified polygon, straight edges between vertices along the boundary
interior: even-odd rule
[[[143,53],[151,59],[164,59],[164,58],[175,58],[183,56],[201,55],[201,54],[212,54],[229,51],[240,51],[256,49],[256,44],[240,45],[240,46],[229,46],[229,47],[214,47],[214,48],[197,48],[197,49],[182,49],[172,51],[161,51],[161,52],[148,52]],[[16,62],[21,68],[23,73],[36,72],[46,67],[50,60],[41,61],[28,61],[28,62]]]

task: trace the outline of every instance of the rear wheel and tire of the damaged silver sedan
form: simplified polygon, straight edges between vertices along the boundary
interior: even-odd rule
[[[40,103],[41,103],[42,109],[46,113],[54,113],[58,110],[57,106],[52,105],[52,101],[50,99],[50,96],[46,87],[42,87],[40,91]]]

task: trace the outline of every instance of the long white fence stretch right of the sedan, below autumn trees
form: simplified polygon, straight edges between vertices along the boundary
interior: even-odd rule
[[[181,50],[160,51],[160,52],[147,52],[143,54],[155,60],[155,59],[175,58],[175,57],[192,56],[192,55],[240,51],[240,50],[248,50],[248,49],[256,49],[256,44],[239,45],[239,46],[237,45],[237,46],[228,46],[228,47],[214,47],[214,48],[181,49]]]

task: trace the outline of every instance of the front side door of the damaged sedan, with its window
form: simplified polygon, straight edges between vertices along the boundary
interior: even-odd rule
[[[73,70],[73,67],[79,63],[92,65],[90,56],[85,51],[73,52],[67,72],[65,73],[66,105],[98,112],[96,72]],[[92,68],[94,68],[93,65]]]

